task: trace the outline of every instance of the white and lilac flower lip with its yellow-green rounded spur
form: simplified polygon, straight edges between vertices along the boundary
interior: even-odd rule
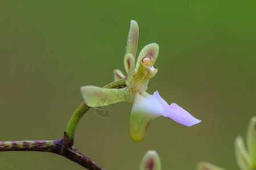
[[[148,126],[157,117],[170,117],[172,120],[185,126],[192,126],[201,122],[179,105],[168,105],[158,91],[153,95],[137,94],[134,99],[130,115],[130,135],[134,141],[146,138]]]

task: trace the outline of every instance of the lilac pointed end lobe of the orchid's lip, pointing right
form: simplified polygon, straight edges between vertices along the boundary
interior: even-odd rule
[[[175,103],[164,106],[163,116],[170,117],[172,120],[185,126],[193,126],[201,122]]]

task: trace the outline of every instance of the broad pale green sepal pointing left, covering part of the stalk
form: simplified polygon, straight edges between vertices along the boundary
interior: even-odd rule
[[[125,88],[101,88],[96,86],[81,87],[82,97],[89,107],[102,107],[113,103],[128,101],[133,103],[134,93],[129,87]],[[108,101],[101,103],[101,100]]]

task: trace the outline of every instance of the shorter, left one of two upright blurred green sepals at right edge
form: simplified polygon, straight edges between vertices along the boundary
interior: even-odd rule
[[[243,138],[238,136],[234,143],[235,155],[237,159],[237,164],[242,170],[247,170],[251,168],[251,158],[248,154],[245,145],[243,143]]]

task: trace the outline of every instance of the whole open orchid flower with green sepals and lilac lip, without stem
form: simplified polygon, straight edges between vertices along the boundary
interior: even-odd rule
[[[131,20],[124,59],[127,76],[120,70],[114,70],[114,80],[126,79],[126,87],[106,89],[96,86],[81,87],[82,97],[89,107],[102,107],[98,101],[106,98],[108,103],[127,101],[133,103],[130,114],[130,136],[134,141],[142,141],[147,135],[148,126],[157,117],[170,117],[185,126],[192,126],[201,122],[179,105],[168,103],[162,99],[158,91],[153,95],[146,92],[148,81],[155,76],[158,69],[154,63],[158,57],[159,46],[156,43],[146,45],[139,53],[135,64],[135,55],[139,37],[137,22]]]

